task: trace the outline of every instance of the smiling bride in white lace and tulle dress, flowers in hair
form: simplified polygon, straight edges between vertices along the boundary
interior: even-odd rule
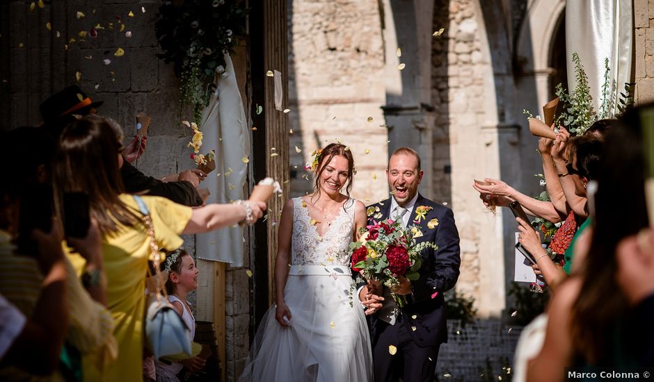
[[[344,194],[352,154],[329,144],[314,161],[313,194],[286,202],[279,224],[276,303],[264,315],[239,381],[372,380],[364,310],[351,297],[349,242],[365,206]],[[290,264],[290,267],[289,267]]]

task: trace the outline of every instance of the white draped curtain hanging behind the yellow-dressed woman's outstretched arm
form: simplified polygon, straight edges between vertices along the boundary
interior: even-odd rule
[[[241,93],[234,74],[234,65],[225,54],[225,72],[218,77],[218,88],[209,106],[202,112],[202,153],[216,151],[216,170],[200,183],[208,188],[210,203],[229,203],[245,199],[243,186],[250,158],[250,130],[246,123]],[[231,169],[231,171],[230,171]],[[216,176],[220,174],[220,176]],[[205,260],[243,266],[243,229],[237,225],[196,235],[196,256]]]

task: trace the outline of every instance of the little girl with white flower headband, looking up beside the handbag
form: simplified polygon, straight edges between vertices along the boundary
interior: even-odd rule
[[[198,289],[198,268],[193,258],[184,251],[184,247],[180,247],[172,254],[166,256],[163,262],[164,269],[168,272],[168,280],[166,281],[166,292],[168,292],[168,301],[173,304],[177,313],[182,316],[182,319],[191,329],[191,338],[196,335],[196,319],[191,313],[191,307],[186,301],[186,294],[192,290]],[[157,360],[157,382],[175,381],[177,373],[186,366],[190,372],[197,372],[205,366],[205,360],[201,357],[192,357],[180,360],[179,363],[166,363],[165,361]]]

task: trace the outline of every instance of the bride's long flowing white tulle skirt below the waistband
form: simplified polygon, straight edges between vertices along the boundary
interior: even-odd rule
[[[351,285],[346,267],[292,266],[291,326],[276,321],[274,305],[266,312],[239,381],[371,381],[367,324]]]

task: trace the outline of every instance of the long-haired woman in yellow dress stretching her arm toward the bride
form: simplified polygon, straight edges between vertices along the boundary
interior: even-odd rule
[[[88,115],[70,124],[59,140],[54,181],[59,192],[86,192],[90,216],[103,235],[107,308],[114,319],[118,359],[100,373],[97,359],[85,357],[88,381],[141,381],[145,275],[150,238],[134,197],[122,193],[122,146],[106,119]],[[182,233],[202,233],[230,224],[253,224],[262,217],[263,202],[238,201],[191,209],[161,197],[141,197],[152,218],[154,238],[161,249],[182,245]],[[61,199],[61,198],[60,198]],[[79,256],[70,255],[77,271]]]

